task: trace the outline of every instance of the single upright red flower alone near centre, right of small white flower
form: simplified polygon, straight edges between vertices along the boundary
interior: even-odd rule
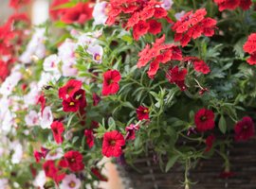
[[[118,70],[109,70],[103,74],[102,95],[117,94],[119,91],[120,73]]]

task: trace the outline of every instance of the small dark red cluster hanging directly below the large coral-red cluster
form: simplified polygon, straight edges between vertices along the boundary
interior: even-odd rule
[[[166,77],[170,83],[176,84],[180,90],[184,91],[186,90],[185,78],[187,74],[188,71],[186,68],[179,69],[178,66],[174,66],[166,73]]]

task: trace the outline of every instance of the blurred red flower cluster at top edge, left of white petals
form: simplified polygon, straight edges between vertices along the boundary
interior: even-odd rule
[[[51,4],[50,15],[53,20],[61,18],[65,24],[83,24],[92,18],[93,8],[90,3],[78,3],[73,8],[60,8],[68,2],[69,0],[55,0]]]

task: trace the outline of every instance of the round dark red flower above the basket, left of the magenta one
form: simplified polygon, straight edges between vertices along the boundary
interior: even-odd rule
[[[207,109],[201,109],[194,115],[194,123],[198,131],[206,131],[214,128],[214,113]]]

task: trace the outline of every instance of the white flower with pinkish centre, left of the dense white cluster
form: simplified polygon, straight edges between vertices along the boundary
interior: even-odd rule
[[[44,61],[44,70],[46,72],[59,73],[58,65],[61,59],[57,55],[50,55]]]

